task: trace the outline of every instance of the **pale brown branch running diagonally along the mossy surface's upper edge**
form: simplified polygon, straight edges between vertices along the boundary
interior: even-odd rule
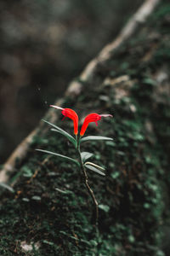
[[[107,61],[113,52],[128,38],[130,38],[134,32],[136,32],[141,24],[147,20],[148,16],[153,12],[156,8],[156,5],[160,3],[161,0],[146,0],[141,7],[137,10],[137,12],[133,15],[133,17],[127,22],[127,25],[122,28],[122,31],[118,35],[118,37],[111,42],[111,44],[107,44],[104,49],[102,49],[99,55],[94,58],[94,60],[88,63],[88,66],[85,67],[84,71],[80,75],[81,81],[90,81],[95,73],[96,68],[98,67],[99,63]],[[82,84],[73,81],[71,82],[70,86],[65,92],[65,96],[78,96],[82,91]],[[61,106],[63,99],[58,102],[55,102],[56,105]],[[57,114],[54,113],[53,110],[48,111],[47,113],[48,119],[51,122],[57,119]],[[39,127],[39,126],[38,126]],[[26,137],[19,146],[14,150],[13,154],[11,154],[3,165],[3,168],[0,172],[0,182],[6,183],[8,182],[8,172],[14,171],[15,161],[17,158],[20,160],[24,159],[30,143],[32,142],[32,138],[37,134],[39,128],[36,128],[32,131],[28,137]]]

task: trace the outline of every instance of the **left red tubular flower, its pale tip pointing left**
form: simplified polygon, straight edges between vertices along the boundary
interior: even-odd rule
[[[72,110],[71,108],[60,108],[58,106],[54,106],[54,105],[50,105],[49,107],[53,107],[53,108],[57,108],[62,110],[61,113],[64,115],[64,119],[65,117],[68,117],[69,119],[73,120],[74,123],[74,134],[77,135],[78,133],[78,116],[77,113]]]

